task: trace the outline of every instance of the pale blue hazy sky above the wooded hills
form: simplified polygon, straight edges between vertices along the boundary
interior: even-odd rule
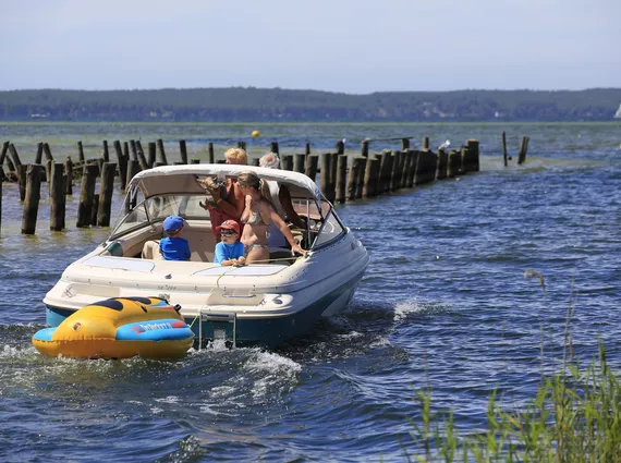
[[[621,87],[621,0],[0,0],[0,90]]]

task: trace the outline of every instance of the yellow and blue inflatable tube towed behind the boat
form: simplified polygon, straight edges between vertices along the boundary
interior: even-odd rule
[[[33,336],[41,354],[75,358],[178,358],[193,342],[194,333],[175,307],[158,297],[100,301]]]

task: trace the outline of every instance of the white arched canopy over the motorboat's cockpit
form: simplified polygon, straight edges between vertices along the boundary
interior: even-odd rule
[[[268,169],[255,166],[238,165],[184,165],[160,166],[138,172],[130,181],[127,191],[138,186],[146,197],[173,193],[204,193],[196,179],[207,175],[238,176],[242,172],[255,172],[265,180],[275,180],[287,185],[292,197],[310,195],[321,200],[321,191],[308,176],[303,173],[281,169]]]

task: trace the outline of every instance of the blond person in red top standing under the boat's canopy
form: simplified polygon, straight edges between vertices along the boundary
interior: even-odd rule
[[[248,160],[246,151],[242,148],[228,149],[227,153],[224,153],[224,158],[228,165],[246,166]],[[205,179],[202,184],[211,195],[214,203],[199,203],[199,205],[209,211],[214,236],[216,236],[216,241],[220,241],[220,224],[224,220],[240,220],[242,211],[244,210],[244,195],[232,179],[227,179],[224,188],[220,188],[210,176]]]

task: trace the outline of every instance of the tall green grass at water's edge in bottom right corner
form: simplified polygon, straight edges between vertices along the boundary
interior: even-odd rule
[[[476,435],[461,437],[452,412],[434,413],[431,389],[415,392],[421,422],[410,419],[411,436],[422,454],[418,462],[621,462],[621,387],[608,368],[599,344],[598,362],[581,369],[573,360],[570,322],[564,332],[563,367],[543,378],[526,410],[504,411],[489,397],[487,425]]]

